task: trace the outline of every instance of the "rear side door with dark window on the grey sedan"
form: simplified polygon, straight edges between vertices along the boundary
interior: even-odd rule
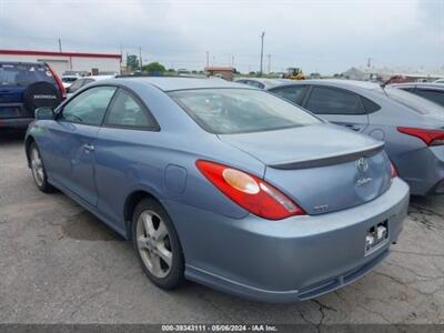
[[[302,105],[356,132],[363,132],[369,125],[369,115],[361,97],[345,89],[313,85]]]

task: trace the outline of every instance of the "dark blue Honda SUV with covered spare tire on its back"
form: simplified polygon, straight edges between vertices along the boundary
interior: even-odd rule
[[[26,129],[40,107],[65,98],[57,73],[42,62],[0,61],[0,129]]]

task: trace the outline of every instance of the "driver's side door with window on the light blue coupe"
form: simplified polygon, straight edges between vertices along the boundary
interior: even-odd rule
[[[53,181],[97,204],[94,142],[115,87],[93,87],[72,98],[48,127],[47,157]]]

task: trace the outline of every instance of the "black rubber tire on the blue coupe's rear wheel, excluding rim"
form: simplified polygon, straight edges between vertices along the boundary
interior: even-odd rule
[[[163,221],[169,238],[169,244],[171,245],[171,253],[172,253],[172,264],[170,266],[169,273],[163,278],[158,278],[153,275],[149,268],[147,266],[145,262],[142,259],[142,250],[138,244],[138,221],[141,218],[141,214],[150,211],[154,212],[157,215],[161,218]],[[183,271],[184,271],[184,256],[182,252],[182,246],[179,241],[178,233],[174,229],[173,223],[171,222],[170,216],[168,215],[164,208],[154,199],[143,199],[139,202],[139,204],[134,209],[132,225],[131,225],[131,234],[132,234],[132,242],[134,245],[135,253],[138,255],[139,262],[142,265],[144,273],[148,278],[159,287],[163,290],[173,290],[180,286],[184,282]]]

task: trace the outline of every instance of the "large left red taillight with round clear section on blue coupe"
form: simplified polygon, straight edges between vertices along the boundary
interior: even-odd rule
[[[249,212],[269,220],[281,220],[305,212],[265,181],[243,171],[199,160],[202,174],[231,200]]]

